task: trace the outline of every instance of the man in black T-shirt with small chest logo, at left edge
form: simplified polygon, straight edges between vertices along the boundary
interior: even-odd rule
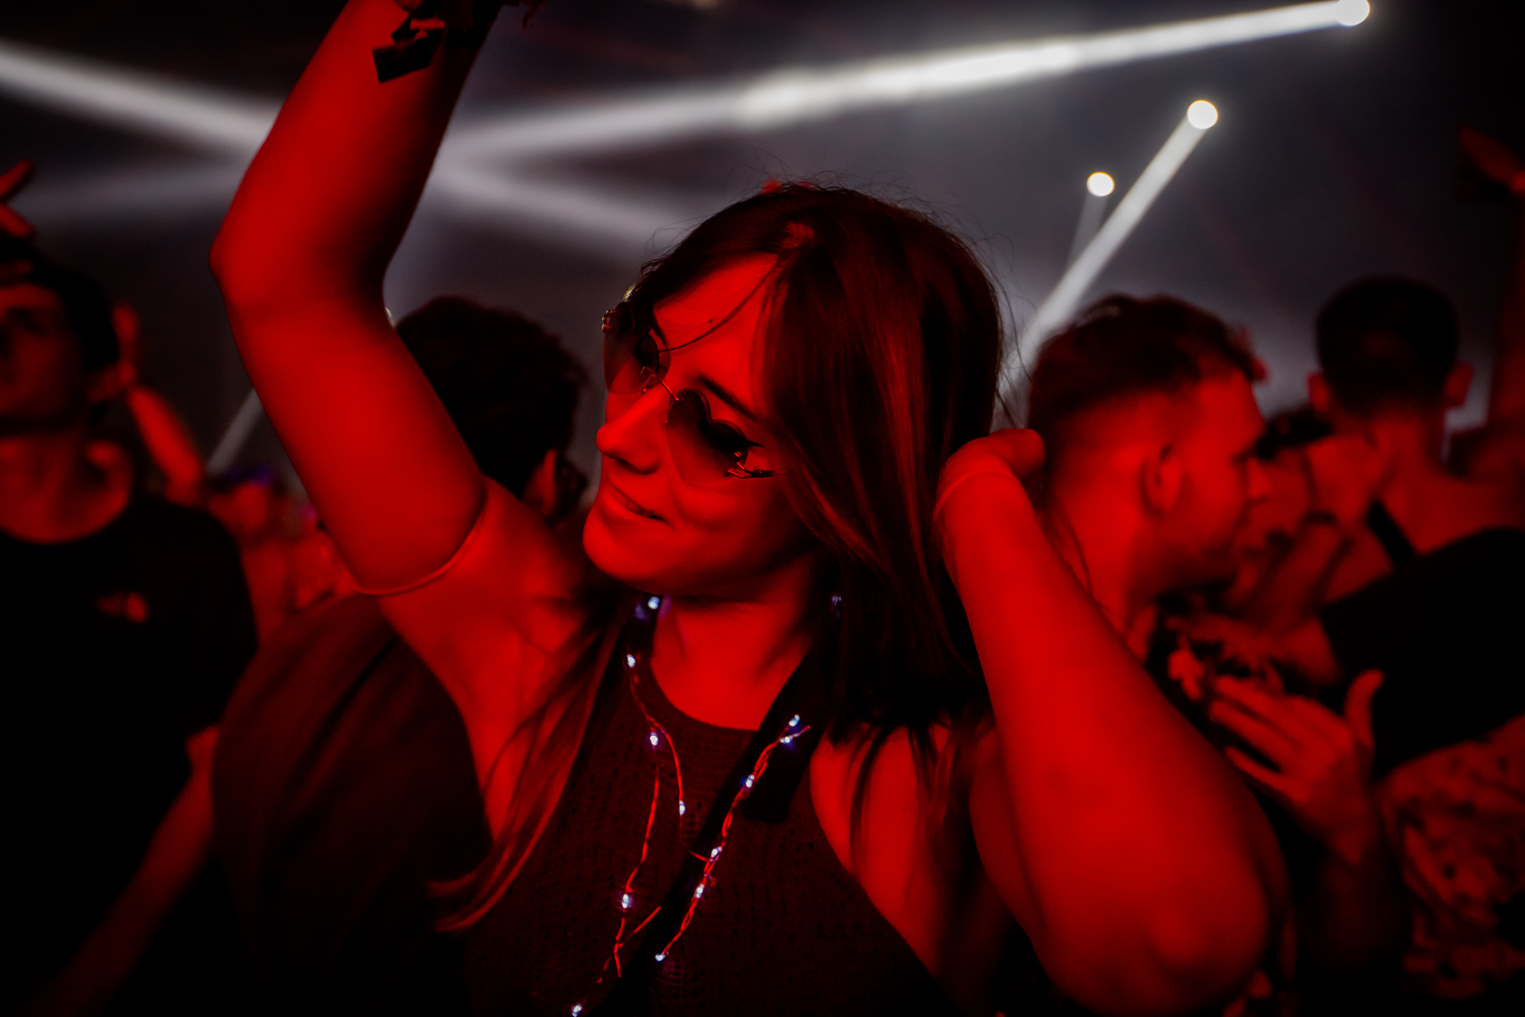
[[[93,460],[92,412],[120,390],[110,305],[5,212],[0,1008],[204,1012],[223,988],[186,953],[212,939],[188,889],[210,848],[217,723],[255,650],[238,550]]]

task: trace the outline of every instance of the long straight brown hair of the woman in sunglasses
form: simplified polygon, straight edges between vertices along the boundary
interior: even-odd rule
[[[910,733],[930,779],[932,727],[965,726],[988,706],[932,509],[942,464],[990,432],[1000,313],[979,261],[929,217],[810,184],[784,184],[717,212],[648,262],[628,299],[654,305],[759,255],[776,258],[764,293],[764,406],[790,464],[781,477],[790,503],[828,563],[817,592],[822,622],[828,610],[840,616],[839,663],[825,691],[828,735],[866,733],[857,813],[872,758],[891,735]],[[607,653],[598,630],[608,631],[613,604],[605,599],[590,614],[596,622],[554,697],[590,701],[593,648]],[[587,706],[557,714],[552,727],[576,730],[522,735],[575,755]],[[570,758],[551,765],[570,767]],[[549,787],[544,773],[520,784]],[[454,926],[502,895],[549,807],[531,814],[515,802]]]

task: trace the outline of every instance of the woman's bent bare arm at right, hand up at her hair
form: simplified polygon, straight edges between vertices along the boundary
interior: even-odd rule
[[[1281,927],[1275,839],[1051,547],[1017,480],[1040,459],[1031,432],[997,432],[942,471],[939,538],[999,741],[971,790],[981,858],[1080,1003],[1226,1003]]]

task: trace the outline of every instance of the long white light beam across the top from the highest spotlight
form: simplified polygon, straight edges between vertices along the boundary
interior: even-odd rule
[[[997,88],[1089,67],[1154,59],[1295,32],[1359,24],[1365,0],[1302,3],[1144,29],[872,59],[834,70],[782,70],[750,85],[708,84],[645,99],[590,101],[462,125],[445,151],[532,156],[612,151],[677,137],[756,131],[849,110]]]

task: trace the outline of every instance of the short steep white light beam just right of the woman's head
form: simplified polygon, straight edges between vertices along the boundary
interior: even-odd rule
[[[1058,285],[1045,297],[1043,303],[1039,305],[1037,314],[1032,316],[1032,320],[1022,331],[1017,349],[1008,357],[1002,371],[1000,390],[1003,395],[1011,396],[1014,393],[1022,366],[1032,345],[1042,342],[1051,331],[1069,320],[1086,296],[1086,290],[1096,281],[1101,270],[1107,267],[1112,256],[1118,253],[1122,241],[1128,238],[1133,227],[1139,224],[1144,213],[1154,204],[1159,192],[1165,189],[1170,178],[1186,162],[1186,156],[1191,154],[1191,149],[1197,146],[1197,142],[1202,140],[1202,136],[1215,122],[1217,110],[1212,108],[1211,102],[1199,99],[1186,108],[1186,116],[1171,131],[1165,145],[1161,146],[1154,159],[1144,168],[1138,181],[1122,195],[1118,207],[1113,209],[1107,221],[1096,230],[1096,235],[1086,244],[1086,250],[1080,252],[1080,256],[1064,270]]]

